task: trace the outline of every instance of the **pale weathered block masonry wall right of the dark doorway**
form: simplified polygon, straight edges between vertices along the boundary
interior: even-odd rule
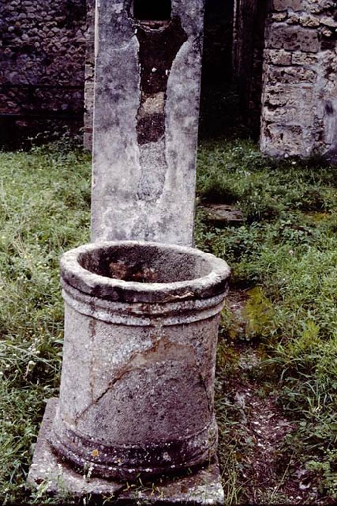
[[[335,0],[273,0],[266,31],[260,146],[272,156],[337,149]]]

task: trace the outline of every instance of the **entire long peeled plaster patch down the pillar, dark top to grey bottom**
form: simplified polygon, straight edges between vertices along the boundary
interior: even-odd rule
[[[167,80],[172,63],[180,47],[187,40],[187,35],[181,27],[180,19],[174,17],[172,21],[160,24],[159,28],[153,28],[153,23],[150,22],[140,23],[137,27],[137,38],[140,105],[136,130],[141,166],[137,197],[140,200],[151,201],[160,197],[165,184]],[[148,147],[148,144],[151,146]]]

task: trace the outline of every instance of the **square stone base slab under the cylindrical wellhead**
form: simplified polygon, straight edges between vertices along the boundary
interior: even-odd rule
[[[27,482],[31,488],[44,490],[59,498],[86,499],[95,503],[127,505],[186,504],[204,506],[224,504],[218,462],[199,469],[189,476],[159,477],[153,482],[128,485],[104,478],[86,477],[76,473],[53,453],[47,436],[50,434],[58,399],[47,402],[40,433],[34,449]]]

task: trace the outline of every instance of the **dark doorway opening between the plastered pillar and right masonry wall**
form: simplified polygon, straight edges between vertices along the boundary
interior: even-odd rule
[[[258,140],[267,13],[259,0],[206,0],[202,139]]]

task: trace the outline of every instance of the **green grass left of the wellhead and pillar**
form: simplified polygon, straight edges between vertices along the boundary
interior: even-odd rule
[[[63,140],[0,152],[0,166],[0,497],[27,503],[31,445],[59,388],[59,259],[89,238],[90,161]]]

